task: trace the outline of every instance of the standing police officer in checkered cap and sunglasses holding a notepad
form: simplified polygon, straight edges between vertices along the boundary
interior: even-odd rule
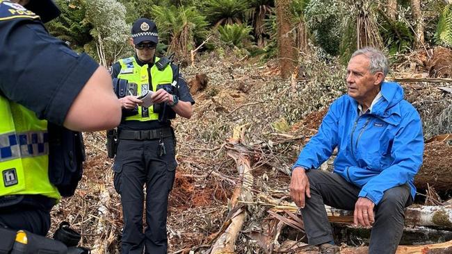
[[[170,119],[176,115],[189,119],[195,101],[179,68],[168,58],[155,56],[159,37],[154,22],[136,20],[130,42],[135,55],[112,67],[113,85],[118,78],[115,90],[123,109],[113,164],[114,185],[124,215],[122,253],[141,254],[143,248],[145,253],[167,253],[168,194],[177,167]],[[121,85],[122,81],[127,85]],[[146,94],[147,98],[138,99]],[[143,232],[144,199],[147,227]]]

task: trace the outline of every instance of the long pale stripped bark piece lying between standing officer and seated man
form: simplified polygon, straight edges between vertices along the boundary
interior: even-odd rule
[[[239,201],[243,201],[245,203],[252,201],[252,192],[250,192],[250,189],[253,183],[248,149],[240,143],[240,140],[243,140],[241,138],[243,137],[243,132],[240,133],[242,130],[243,128],[235,128],[234,136],[232,139],[229,139],[228,145],[225,146],[227,149],[227,155],[236,161],[237,171],[239,171],[239,176],[241,178],[241,183],[236,186],[231,198],[232,211],[235,210],[235,212],[229,213],[232,214],[229,226],[227,226],[225,231],[212,245],[210,252],[211,254],[234,253],[234,244],[239,236],[241,228],[243,227],[243,223],[245,223],[248,217],[246,209],[244,208],[245,205],[238,205]]]

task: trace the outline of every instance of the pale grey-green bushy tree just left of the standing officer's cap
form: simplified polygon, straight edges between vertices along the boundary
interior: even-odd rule
[[[92,24],[97,56],[108,67],[120,56],[129,39],[126,8],[115,0],[86,0],[86,19]]]

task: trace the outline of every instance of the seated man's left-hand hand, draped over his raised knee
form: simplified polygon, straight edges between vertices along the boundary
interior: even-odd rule
[[[305,169],[302,167],[293,169],[290,188],[293,202],[295,202],[299,208],[305,208],[305,194],[308,198],[311,197],[309,180],[307,179]]]

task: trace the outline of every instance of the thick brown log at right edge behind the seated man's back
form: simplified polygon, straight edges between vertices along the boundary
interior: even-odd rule
[[[427,189],[427,184],[436,191],[446,191],[452,186],[452,146],[447,142],[430,142],[425,145],[423,164],[414,177],[418,189]]]

